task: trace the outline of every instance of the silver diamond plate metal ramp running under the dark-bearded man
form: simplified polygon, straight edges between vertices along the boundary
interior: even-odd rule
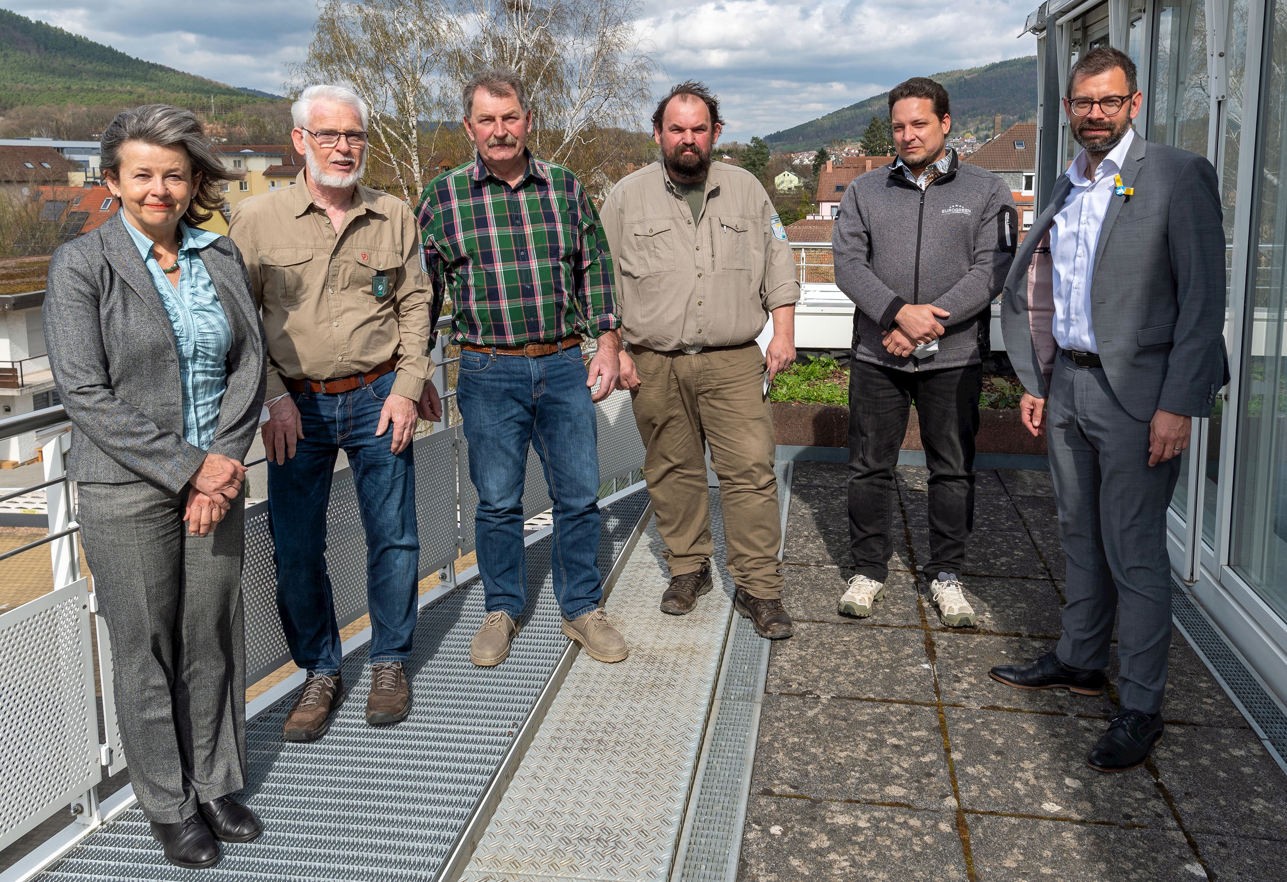
[[[716,590],[686,616],[660,612],[668,576],[650,523],[606,603],[629,658],[577,657],[465,882],[669,877],[732,612],[710,496]]]

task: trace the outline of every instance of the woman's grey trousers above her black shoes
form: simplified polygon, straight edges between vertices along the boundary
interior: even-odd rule
[[[185,499],[143,481],[79,485],[130,783],[162,824],[246,783],[245,496],[205,537],[188,536]]]

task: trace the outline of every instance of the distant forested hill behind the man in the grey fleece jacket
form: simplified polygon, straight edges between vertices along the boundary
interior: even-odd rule
[[[967,71],[932,73],[931,80],[943,84],[952,102],[952,131],[992,132],[992,114],[1000,113],[1004,126],[1032,122],[1037,113],[1037,58],[1014,58]],[[784,131],[764,138],[773,150],[812,150],[831,141],[861,138],[876,113],[888,113],[880,93]]]

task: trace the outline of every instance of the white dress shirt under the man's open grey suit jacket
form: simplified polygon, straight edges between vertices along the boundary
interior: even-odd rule
[[[1054,264],[1054,341],[1063,350],[1098,352],[1095,329],[1090,323],[1090,282],[1095,269],[1095,246],[1104,215],[1113,198],[1115,177],[1135,140],[1135,130],[1099,162],[1095,176],[1088,179],[1086,152],[1068,166],[1072,189],[1063,208],[1050,225],[1050,257]]]

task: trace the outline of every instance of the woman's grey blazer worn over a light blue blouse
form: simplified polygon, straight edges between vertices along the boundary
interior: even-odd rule
[[[264,329],[232,239],[215,239],[201,260],[232,330],[210,453],[241,460],[264,402]],[[121,212],[54,252],[44,315],[49,364],[72,420],[68,476],[183,490],[206,451],[183,437],[174,328]]]

